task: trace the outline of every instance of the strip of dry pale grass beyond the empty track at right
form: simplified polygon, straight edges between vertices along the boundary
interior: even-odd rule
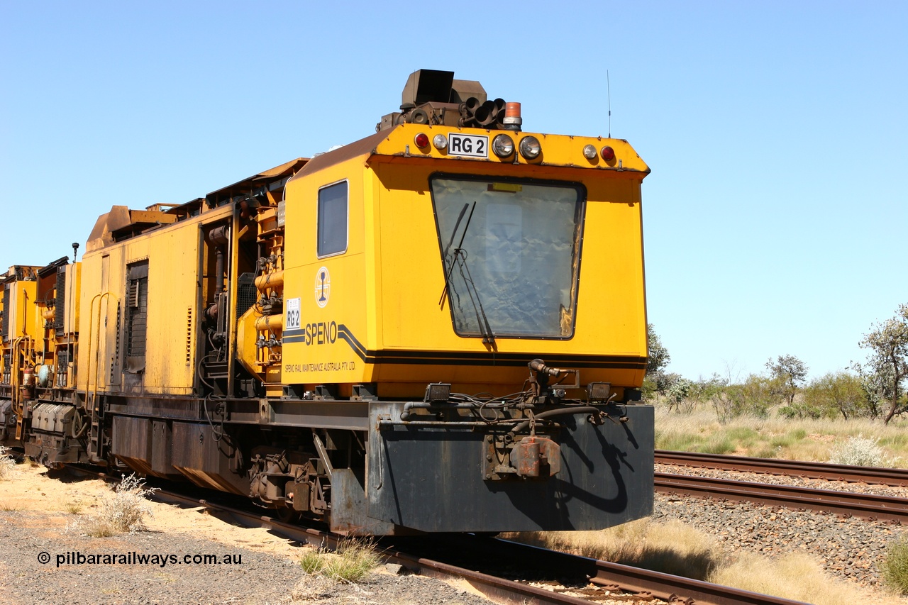
[[[668,412],[656,405],[656,448],[677,451],[735,453],[760,458],[828,461],[837,447],[854,438],[874,441],[885,464],[898,466],[908,460],[908,420],[889,426],[880,421],[857,419],[799,420],[740,417],[718,422],[712,410]]]

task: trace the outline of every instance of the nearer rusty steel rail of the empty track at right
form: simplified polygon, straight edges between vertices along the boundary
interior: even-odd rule
[[[785,506],[792,509],[828,511],[875,521],[908,524],[908,499],[850,491],[816,490],[792,485],[769,485],[753,481],[731,481],[655,473],[656,491],[683,493],[733,501]]]

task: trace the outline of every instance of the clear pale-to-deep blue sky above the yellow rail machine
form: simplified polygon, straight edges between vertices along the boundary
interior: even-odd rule
[[[419,68],[590,135],[608,71],[669,370],[818,376],[908,302],[905,32],[903,2],[2,2],[0,266],[368,135]]]

